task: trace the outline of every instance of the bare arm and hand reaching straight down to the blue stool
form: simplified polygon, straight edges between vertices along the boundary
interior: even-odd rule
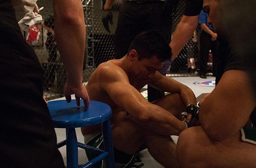
[[[81,0],[53,0],[55,37],[61,59],[65,65],[67,83],[64,94],[67,102],[75,94],[88,107],[89,96],[82,84],[85,48],[85,23]]]

